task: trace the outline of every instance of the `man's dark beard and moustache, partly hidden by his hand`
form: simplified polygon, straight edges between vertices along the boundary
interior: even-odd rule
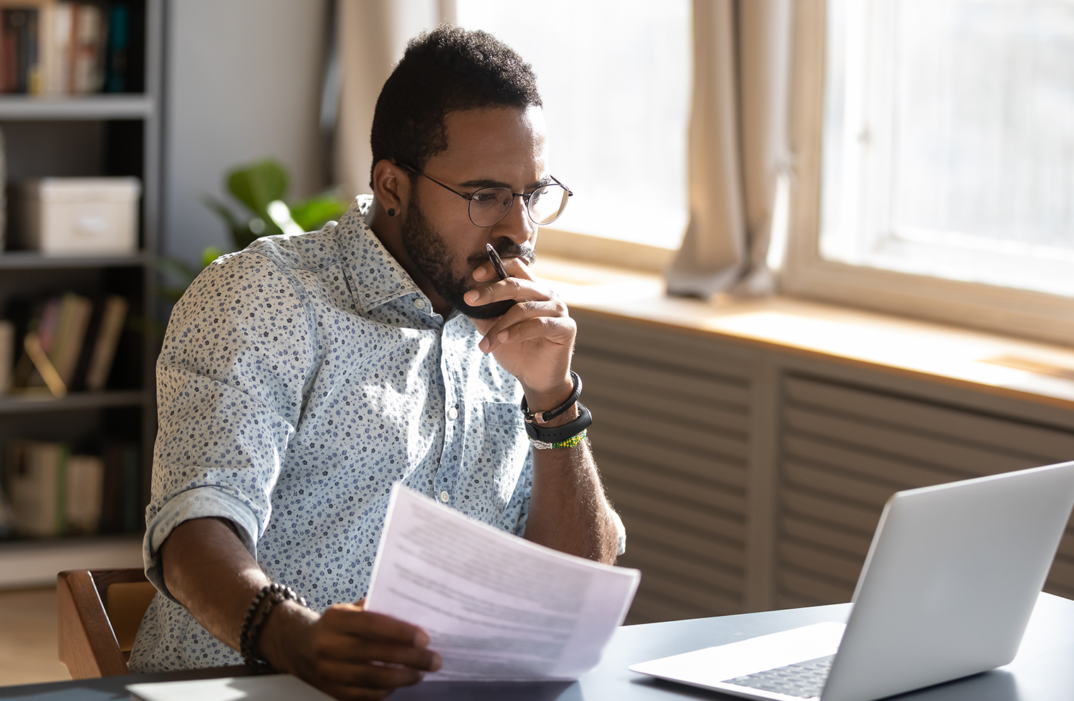
[[[470,319],[503,317],[508,309],[514,306],[514,300],[503,300],[478,307],[470,306],[463,300],[464,294],[478,286],[478,282],[474,280],[473,273],[479,265],[488,263],[489,257],[483,251],[470,255],[466,259],[469,272],[462,277],[456,277],[453,269],[454,255],[448,242],[429,223],[429,219],[421,210],[417,195],[418,193],[411,190],[410,206],[407,208],[406,218],[401,222],[403,247],[406,248],[410,260],[429,279],[436,293],[447,300],[454,309]],[[500,258],[521,258],[527,264],[533,264],[536,259],[533,248],[519,246],[509,238],[502,240],[503,244],[496,246],[496,252],[499,253]]]

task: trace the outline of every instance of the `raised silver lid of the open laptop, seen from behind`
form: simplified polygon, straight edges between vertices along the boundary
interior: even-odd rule
[[[1074,462],[895,494],[822,696],[868,701],[1014,659],[1074,506]]]

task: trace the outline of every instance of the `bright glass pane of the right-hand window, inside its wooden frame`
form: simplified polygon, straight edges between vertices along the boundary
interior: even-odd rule
[[[829,3],[822,251],[1074,294],[1074,3]]]

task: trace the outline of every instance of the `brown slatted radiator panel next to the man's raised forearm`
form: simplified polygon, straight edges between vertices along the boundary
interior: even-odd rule
[[[576,313],[593,452],[642,571],[627,623],[743,609],[750,380],[705,339]]]

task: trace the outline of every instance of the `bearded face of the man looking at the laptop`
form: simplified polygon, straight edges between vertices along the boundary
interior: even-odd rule
[[[529,192],[548,175],[545,119],[539,107],[496,107],[449,113],[448,148],[429,160],[424,173],[464,194],[506,187]],[[401,222],[403,245],[436,292],[477,319],[503,316],[513,302],[471,307],[463,295],[476,287],[474,271],[489,262],[484,245],[504,259],[534,262],[537,225],[516,198],[503,221],[477,227],[469,203],[432,180],[418,177]]]

